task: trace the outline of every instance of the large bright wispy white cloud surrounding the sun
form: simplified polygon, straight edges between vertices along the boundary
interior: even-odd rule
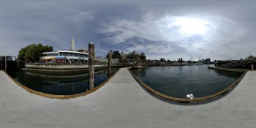
[[[203,52],[210,56],[211,53],[208,51],[216,51],[219,47],[229,45],[246,34],[246,29],[241,24],[218,15],[206,14],[162,17],[146,14],[140,21],[118,19],[102,26],[104,27],[99,32],[105,34],[106,42],[115,45],[125,44],[136,38],[146,39],[151,42],[135,41],[134,45],[129,45],[126,49],[158,53],[163,56],[173,51],[173,48],[184,48],[184,53]]]

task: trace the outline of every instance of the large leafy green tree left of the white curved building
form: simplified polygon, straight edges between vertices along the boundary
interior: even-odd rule
[[[53,51],[53,46],[42,44],[31,44],[26,46],[25,48],[21,48],[18,53],[18,59],[25,60],[29,59],[29,61],[39,61],[40,56],[44,52]]]

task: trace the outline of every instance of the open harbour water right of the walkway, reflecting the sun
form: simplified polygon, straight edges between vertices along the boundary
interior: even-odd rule
[[[143,67],[132,72],[152,89],[177,98],[186,98],[187,94],[195,97],[216,94],[243,74],[208,69],[208,66]]]

